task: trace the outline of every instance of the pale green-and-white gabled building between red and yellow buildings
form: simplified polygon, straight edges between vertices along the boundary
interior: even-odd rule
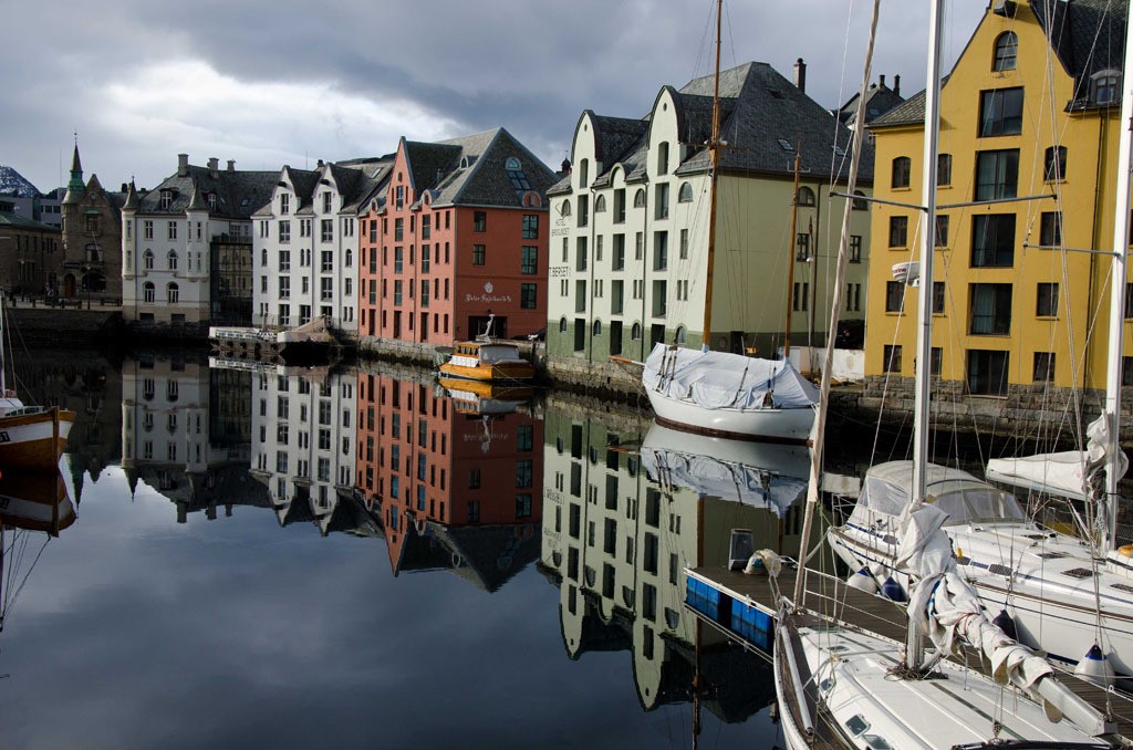
[[[571,173],[547,191],[553,372],[597,373],[608,356],[644,359],[658,341],[774,356],[789,316],[795,346],[823,344],[845,206],[832,184],[844,190],[851,133],[806,95],[801,61],[795,78],[759,62],[721,73],[709,332],[713,77],[662,87],[641,119],[582,112]],[[863,195],[871,182],[867,144]],[[860,319],[869,212],[854,207],[842,317]]]

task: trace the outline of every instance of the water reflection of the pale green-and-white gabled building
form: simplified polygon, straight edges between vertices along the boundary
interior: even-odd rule
[[[651,709],[691,700],[697,624],[683,606],[684,569],[727,564],[732,528],[758,529],[770,539],[782,527],[765,506],[650,478],[637,451],[648,428],[636,417],[599,423],[548,404],[542,568],[560,586],[571,658],[630,649],[638,698]],[[792,532],[798,530],[786,530]],[[725,641],[702,629],[701,654],[722,654]],[[701,662],[701,670],[712,667]],[[721,687],[751,689],[758,688]]]

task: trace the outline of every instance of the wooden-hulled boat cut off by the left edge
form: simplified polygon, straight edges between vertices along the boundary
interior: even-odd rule
[[[0,302],[0,468],[52,471],[67,448],[75,412],[59,407],[25,404],[7,385],[3,355],[5,316]]]

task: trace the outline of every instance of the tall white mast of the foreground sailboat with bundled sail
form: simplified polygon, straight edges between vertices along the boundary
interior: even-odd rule
[[[913,406],[913,502],[910,511],[925,502],[928,471],[929,376],[932,364],[932,255],[936,252],[937,152],[940,139],[940,46],[944,42],[944,0],[931,0],[928,37],[928,80],[925,85],[925,181],[921,190],[920,295],[917,306],[915,402]],[[915,672],[925,657],[920,628],[909,619],[905,667]]]

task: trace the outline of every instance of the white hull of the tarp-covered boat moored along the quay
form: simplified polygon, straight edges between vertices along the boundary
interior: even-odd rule
[[[659,391],[649,390],[649,404],[657,423],[683,429],[732,440],[765,440],[807,443],[815,425],[815,408],[719,408],[707,409],[690,399],[674,399]]]

